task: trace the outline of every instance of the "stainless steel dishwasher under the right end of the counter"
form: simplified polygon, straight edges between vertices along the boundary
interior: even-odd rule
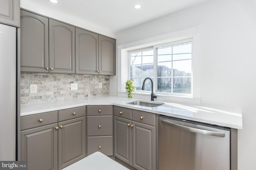
[[[230,128],[158,117],[159,170],[230,170]]]

